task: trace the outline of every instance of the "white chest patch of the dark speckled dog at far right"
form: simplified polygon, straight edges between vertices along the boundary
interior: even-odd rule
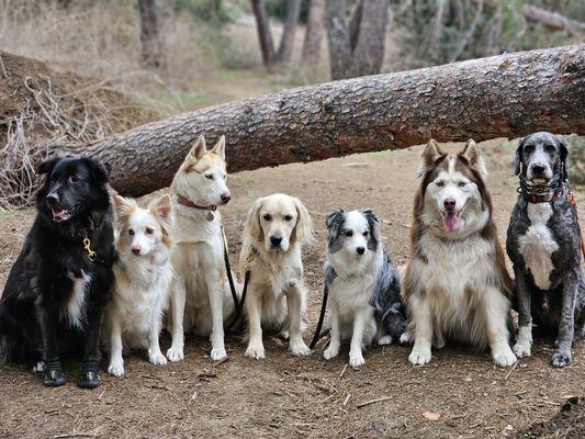
[[[554,270],[551,255],[559,250],[547,223],[552,216],[549,203],[528,203],[528,218],[530,227],[518,239],[519,250],[526,267],[532,273],[535,284],[541,290],[550,288],[550,274]]]

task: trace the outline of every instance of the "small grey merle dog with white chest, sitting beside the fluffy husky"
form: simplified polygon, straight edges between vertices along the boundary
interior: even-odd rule
[[[331,340],[323,356],[337,357],[341,340],[351,339],[349,365],[359,368],[365,363],[363,347],[372,341],[389,345],[404,333],[400,277],[380,240],[380,221],[370,209],[337,210],[326,225]]]

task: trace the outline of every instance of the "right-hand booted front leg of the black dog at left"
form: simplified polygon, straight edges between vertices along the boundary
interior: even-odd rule
[[[98,344],[102,326],[104,305],[101,303],[88,304],[86,347],[81,360],[81,374],[77,385],[83,389],[94,389],[101,384],[98,368]]]

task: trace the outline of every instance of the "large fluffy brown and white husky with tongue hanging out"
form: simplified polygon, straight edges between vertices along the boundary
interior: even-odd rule
[[[459,154],[430,140],[423,153],[415,199],[410,259],[404,279],[413,364],[430,361],[431,345],[458,340],[492,349],[511,365],[508,344],[511,280],[492,218],[487,171],[475,142]]]

